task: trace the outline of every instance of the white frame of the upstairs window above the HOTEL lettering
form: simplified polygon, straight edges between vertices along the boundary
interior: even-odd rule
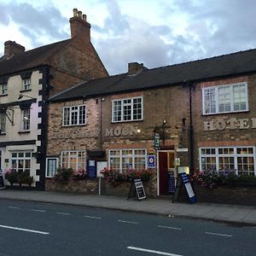
[[[245,85],[246,109],[234,110],[234,90],[233,90],[233,88],[236,85]],[[221,88],[221,87],[230,87],[230,111],[220,112],[218,110],[218,107],[219,107],[219,102],[218,102],[219,93],[218,93],[218,89]],[[248,107],[247,87],[248,87],[247,82],[242,82],[242,83],[236,83],[236,84],[221,84],[221,85],[218,85],[218,86],[202,88],[202,114],[203,115],[210,115],[210,114],[218,114],[218,113],[236,113],[236,112],[246,112],[246,111],[248,111],[249,107]],[[205,99],[205,91],[206,90],[214,90],[215,91],[214,95],[215,95],[215,102],[216,102],[216,111],[214,113],[206,113],[206,111],[207,111],[206,105],[205,105],[205,101],[206,101],[206,99]]]

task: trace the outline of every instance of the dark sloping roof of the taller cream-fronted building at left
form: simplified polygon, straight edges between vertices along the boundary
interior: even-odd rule
[[[9,60],[0,61],[0,76],[9,75],[10,73],[17,73],[22,70],[31,69],[42,65],[47,65],[49,58],[55,54],[56,51],[61,50],[66,46],[71,39],[57,42],[55,44],[48,44],[31,50],[26,50],[20,55],[14,55]],[[3,61],[2,61],[3,60]]]

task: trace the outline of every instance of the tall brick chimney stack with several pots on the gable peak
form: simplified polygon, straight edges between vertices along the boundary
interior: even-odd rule
[[[71,38],[81,38],[90,42],[90,23],[86,21],[86,15],[82,15],[82,12],[75,8],[69,22]]]

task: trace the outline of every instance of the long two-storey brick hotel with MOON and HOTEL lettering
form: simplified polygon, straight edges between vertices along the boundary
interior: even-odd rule
[[[256,175],[255,60],[256,49],[154,69],[129,63],[128,73],[78,84],[50,99],[47,154],[60,166],[105,160],[120,172],[155,155],[154,195],[173,191],[182,166]],[[68,108],[77,114],[69,125]]]

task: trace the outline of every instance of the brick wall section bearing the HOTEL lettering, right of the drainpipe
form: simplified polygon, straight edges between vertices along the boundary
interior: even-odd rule
[[[249,111],[241,113],[219,113],[211,115],[202,115],[202,88],[220,85],[236,84],[239,82],[248,83],[248,105]],[[248,146],[256,144],[255,129],[224,129],[214,131],[204,131],[205,121],[217,121],[218,119],[228,120],[251,119],[256,118],[256,75],[234,77],[229,79],[219,79],[213,81],[195,84],[192,91],[192,108],[193,108],[193,128],[195,139],[195,167],[199,167],[198,148],[200,147],[225,147],[225,146]]]

